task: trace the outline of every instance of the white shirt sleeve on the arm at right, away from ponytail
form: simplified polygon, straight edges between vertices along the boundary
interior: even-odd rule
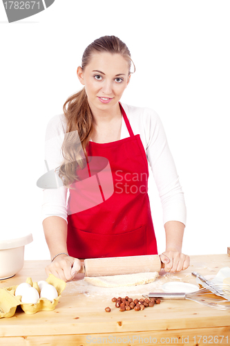
[[[151,166],[162,203],[163,222],[180,221],[186,225],[186,205],[178,172],[158,114],[146,109],[142,118],[146,137],[146,156]]]

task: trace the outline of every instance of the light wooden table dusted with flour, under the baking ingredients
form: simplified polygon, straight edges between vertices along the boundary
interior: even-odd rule
[[[25,282],[27,277],[34,282],[46,280],[44,268],[49,262],[26,261],[0,287]],[[191,266],[176,275],[195,283],[191,271],[215,275],[224,266],[230,266],[227,254],[191,256]],[[143,293],[148,292],[146,286]],[[121,312],[111,298],[76,295],[67,284],[54,311],[26,315],[17,307],[15,316],[1,318],[0,345],[230,345],[230,310],[211,309],[191,300],[164,300],[143,311]],[[107,306],[110,313],[104,311]]]

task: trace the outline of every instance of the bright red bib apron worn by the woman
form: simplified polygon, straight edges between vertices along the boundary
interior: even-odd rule
[[[146,153],[140,135],[134,136],[126,113],[119,105],[130,137],[111,143],[90,141],[87,149],[88,156],[108,159],[113,194],[93,208],[70,214],[77,196],[69,190],[67,248],[69,255],[76,258],[157,254],[147,193]]]

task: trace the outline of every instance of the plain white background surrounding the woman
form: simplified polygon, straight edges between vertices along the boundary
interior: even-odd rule
[[[230,1],[56,0],[8,24],[0,3],[0,239],[32,233],[26,260],[48,259],[41,224],[48,120],[79,91],[86,46],[116,35],[136,72],[122,102],[162,119],[187,207],[183,252],[227,253],[229,232]],[[165,237],[151,176],[149,195],[159,253]],[[54,235],[55,237],[55,235]]]

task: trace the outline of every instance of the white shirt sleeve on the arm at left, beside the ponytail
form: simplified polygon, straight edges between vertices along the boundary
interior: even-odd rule
[[[61,164],[61,144],[64,140],[65,122],[64,115],[54,116],[48,122],[46,128],[45,160],[48,170],[53,170]],[[44,174],[47,172],[46,168]],[[68,189],[61,186],[57,189],[43,190],[43,203],[41,205],[41,220],[50,216],[59,216],[67,222]]]

